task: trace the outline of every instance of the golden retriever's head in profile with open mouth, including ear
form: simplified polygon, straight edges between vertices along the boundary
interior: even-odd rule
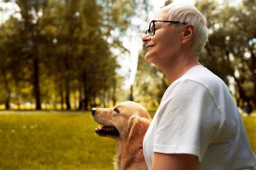
[[[151,122],[148,111],[135,102],[121,102],[113,108],[92,108],[95,121],[103,125],[96,128],[99,136],[111,137],[119,142],[133,142],[144,135]]]

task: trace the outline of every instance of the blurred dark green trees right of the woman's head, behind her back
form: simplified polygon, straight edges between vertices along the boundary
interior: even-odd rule
[[[195,5],[207,14],[209,44],[199,61],[226,84],[234,77],[236,99],[256,104],[256,6],[255,0],[243,0],[230,6],[215,1],[199,0]]]

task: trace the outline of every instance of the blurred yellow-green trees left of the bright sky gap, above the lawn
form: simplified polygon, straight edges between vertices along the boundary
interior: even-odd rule
[[[40,103],[65,102],[70,109],[72,100],[87,109],[120,88],[110,49],[127,51],[119,38],[130,26],[135,0],[15,2],[21,19],[11,17],[0,26],[0,98],[6,108],[10,102],[33,102],[37,109]]]

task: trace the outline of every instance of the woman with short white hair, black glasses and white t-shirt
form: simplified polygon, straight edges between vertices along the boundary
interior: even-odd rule
[[[206,18],[190,4],[160,9],[142,41],[145,60],[171,85],[144,137],[149,170],[254,170],[236,104],[225,83],[198,62]]]

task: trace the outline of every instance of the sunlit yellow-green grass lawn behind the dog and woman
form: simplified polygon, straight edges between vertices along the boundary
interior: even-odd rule
[[[113,170],[113,139],[90,112],[0,112],[0,170]],[[243,117],[256,152],[256,117]]]

